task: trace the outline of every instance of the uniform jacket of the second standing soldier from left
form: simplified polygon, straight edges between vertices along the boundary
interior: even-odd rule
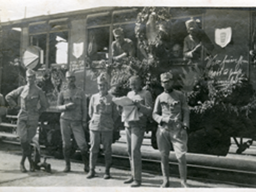
[[[73,109],[66,109],[66,104],[74,103]],[[66,88],[58,95],[57,109],[61,111],[61,118],[73,121],[85,121],[87,119],[87,103],[85,93],[77,88]]]

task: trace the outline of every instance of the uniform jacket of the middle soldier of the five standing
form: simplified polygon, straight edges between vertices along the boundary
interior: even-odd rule
[[[112,131],[114,129],[114,122],[119,114],[112,98],[113,96],[109,93],[105,96],[101,96],[100,93],[92,95],[89,104],[90,130]]]

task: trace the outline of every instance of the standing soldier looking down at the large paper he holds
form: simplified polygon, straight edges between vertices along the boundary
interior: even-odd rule
[[[127,94],[127,97],[134,101],[138,112],[141,114],[139,120],[125,121],[127,152],[131,165],[131,177],[125,180],[124,183],[131,183],[131,187],[141,185],[140,147],[146,131],[147,117],[149,117],[152,112],[152,96],[149,91],[142,89],[141,83],[141,78],[139,76],[132,76],[130,78],[131,91]]]

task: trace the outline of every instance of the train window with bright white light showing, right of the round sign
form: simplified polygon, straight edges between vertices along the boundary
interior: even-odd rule
[[[68,32],[50,33],[49,63],[50,65],[67,65]]]

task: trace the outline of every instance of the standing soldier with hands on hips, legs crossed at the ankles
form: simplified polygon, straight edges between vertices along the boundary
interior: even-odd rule
[[[35,166],[31,158],[30,143],[36,135],[39,116],[48,107],[45,93],[36,85],[36,73],[33,70],[26,71],[27,85],[18,87],[16,90],[6,95],[6,100],[12,108],[17,107],[16,99],[21,97],[21,109],[18,114],[17,132],[21,141],[22,159],[19,166],[22,173],[27,170],[24,166],[26,157],[29,161],[29,170],[35,171]],[[40,109],[38,109],[40,103]]]

